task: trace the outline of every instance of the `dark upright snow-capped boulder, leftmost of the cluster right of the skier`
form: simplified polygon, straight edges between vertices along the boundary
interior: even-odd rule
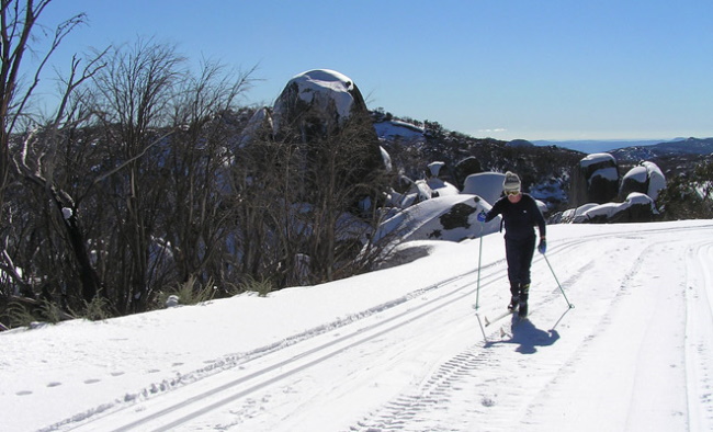
[[[592,154],[571,170],[569,203],[608,203],[619,193],[619,167],[609,154]]]

